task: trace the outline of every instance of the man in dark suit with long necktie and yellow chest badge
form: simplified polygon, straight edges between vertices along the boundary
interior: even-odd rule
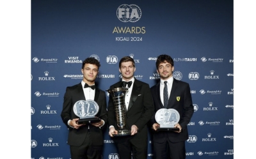
[[[154,98],[155,114],[151,118],[154,158],[184,159],[186,158],[185,141],[188,140],[187,125],[194,113],[189,84],[173,78],[173,59],[163,54],[156,60],[160,81],[150,88]],[[166,81],[166,82],[165,82]],[[166,98],[164,86],[166,83]],[[167,95],[168,93],[168,95]],[[166,99],[164,102],[164,99]],[[175,109],[179,112],[179,122],[175,124],[177,131],[157,131],[159,123],[155,116],[159,109]]]

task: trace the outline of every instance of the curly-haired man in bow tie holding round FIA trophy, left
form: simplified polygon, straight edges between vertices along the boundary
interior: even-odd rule
[[[102,129],[107,125],[108,112],[105,92],[95,87],[95,79],[99,73],[99,68],[100,63],[97,59],[93,57],[86,58],[81,69],[83,80],[79,84],[67,87],[64,95],[61,119],[69,130],[68,145],[70,145],[72,159],[102,158]],[[100,121],[97,121],[97,123],[77,123],[79,117],[74,113],[73,107],[79,100],[95,101],[99,105],[99,111],[95,116],[99,117]]]

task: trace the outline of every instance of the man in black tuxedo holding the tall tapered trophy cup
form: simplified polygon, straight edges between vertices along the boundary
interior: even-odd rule
[[[115,106],[111,95],[109,95],[109,135],[113,137],[120,159],[131,159],[131,152],[134,159],[147,158],[147,124],[154,113],[154,103],[149,85],[134,78],[135,70],[134,60],[129,56],[123,57],[119,62],[122,80],[109,87],[110,90],[116,87],[129,87],[125,94],[125,129],[131,130],[131,135],[115,136],[118,133],[118,126]],[[125,82],[129,82],[129,84],[125,84]]]

